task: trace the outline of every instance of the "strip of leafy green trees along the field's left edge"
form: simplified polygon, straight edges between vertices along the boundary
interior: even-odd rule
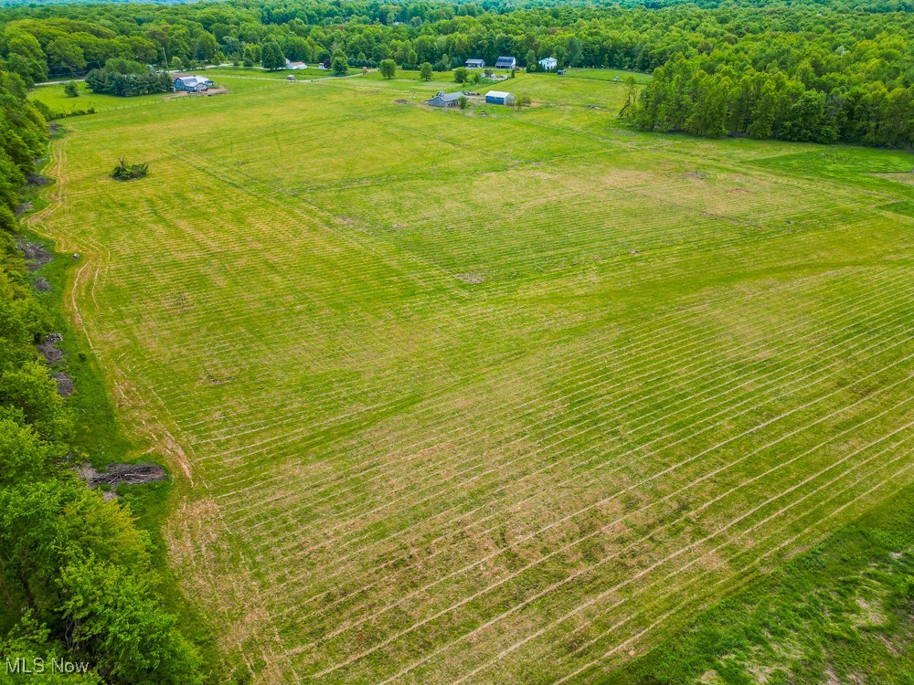
[[[37,353],[51,317],[17,248],[15,209],[47,143],[25,83],[0,71],[0,680],[44,667],[42,682],[197,682],[196,651],[155,592],[148,535],[77,478],[88,456],[73,443],[73,408]],[[87,670],[55,674],[51,659]]]

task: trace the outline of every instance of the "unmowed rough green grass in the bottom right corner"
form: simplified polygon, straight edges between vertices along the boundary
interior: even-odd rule
[[[912,504],[899,493],[601,682],[911,682]]]

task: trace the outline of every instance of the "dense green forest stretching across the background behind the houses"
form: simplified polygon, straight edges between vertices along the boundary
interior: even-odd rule
[[[624,112],[644,130],[907,148],[911,9],[907,0],[41,5],[0,11],[0,56],[28,85],[92,69],[98,80],[112,58],[189,68],[250,66],[266,53],[271,62],[334,56],[350,66],[393,59],[447,70],[467,58],[511,55],[527,66],[551,56],[560,67],[654,73]]]

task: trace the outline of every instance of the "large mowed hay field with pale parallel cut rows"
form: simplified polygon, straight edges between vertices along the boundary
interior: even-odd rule
[[[64,120],[31,227],[257,682],[599,680],[914,482],[910,155],[219,81]]]

